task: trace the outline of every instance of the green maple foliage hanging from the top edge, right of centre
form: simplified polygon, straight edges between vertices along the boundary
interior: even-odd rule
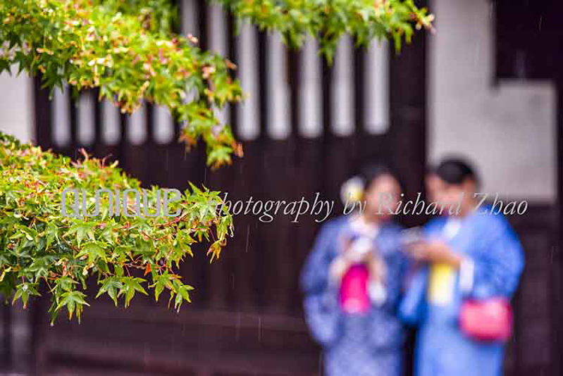
[[[338,39],[351,35],[360,46],[373,39],[411,42],[414,29],[433,30],[434,16],[413,0],[213,0],[261,29],[280,32],[286,44],[298,48],[307,35],[318,39],[332,63]]]

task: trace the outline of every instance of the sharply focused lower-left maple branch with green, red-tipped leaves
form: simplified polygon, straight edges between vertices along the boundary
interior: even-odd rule
[[[51,296],[51,320],[63,308],[68,317],[80,320],[87,306],[87,278],[97,277],[97,296],[107,294],[128,306],[135,294],[154,294],[156,300],[168,292],[168,306],[179,309],[190,301],[189,284],[178,274],[180,262],[193,256],[192,246],[210,242],[211,261],[218,258],[232,235],[232,217],[221,206],[219,192],[192,186],[177,201],[169,201],[166,215],[133,215],[129,207],[115,215],[109,194],[99,195],[101,210],[95,215],[97,189],[140,190],[140,182],[127,177],[117,163],[90,158],[84,151],[80,161],[20,144],[0,133],[0,292],[21,299],[23,305],[39,295],[39,284],[47,284]],[[85,214],[62,215],[63,190],[77,191],[66,197],[67,213],[82,189]],[[113,196],[113,201],[115,197]],[[78,201],[75,201],[78,199]],[[135,202],[131,196],[127,204]],[[142,213],[156,213],[163,202],[158,187],[144,190]]]

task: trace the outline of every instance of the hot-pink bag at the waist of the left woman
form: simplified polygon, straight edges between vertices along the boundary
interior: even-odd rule
[[[340,307],[345,313],[367,313],[369,270],[364,263],[352,265],[340,282]]]

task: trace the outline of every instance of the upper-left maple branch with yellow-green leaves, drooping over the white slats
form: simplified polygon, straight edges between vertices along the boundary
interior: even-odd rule
[[[230,163],[233,151],[241,155],[242,148],[215,113],[242,98],[230,74],[235,65],[201,51],[194,37],[172,35],[174,12],[165,4],[3,0],[0,73],[16,64],[19,71],[41,72],[44,87],[51,90],[65,82],[75,92],[99,87],[100,99],[126,113],[143,99],[167,106],[185,123],[182,140],[188,147],[202,137],[209,165]]]

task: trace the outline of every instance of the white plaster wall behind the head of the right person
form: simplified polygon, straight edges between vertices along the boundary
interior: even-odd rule
[[[495,87],[489,0],[434,0],[429,38],[429,132],[432,162],[457,154],[474,161],[483,192],[554,201],[555,88],[510,80]]]

